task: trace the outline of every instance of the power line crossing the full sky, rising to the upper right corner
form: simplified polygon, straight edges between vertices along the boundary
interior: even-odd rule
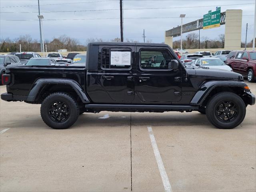
[[[160,8],[124,8],[123,10],[152,10],[152,9],[177,9],[177,8],[200,8],[200,7],[216,7],[216,6],[234,6],[234,5],[251,5],[254,3],[243,4],[226,4],[226,5],[208,5],[208,6],[185,6],[185,7],[160,7]],[[101,10],[75,10],[75,11],[44,11],[42,13],[60,13],[60,12],[88,12],[88,11],[112,11],[120,9],[101,9]],[[36,13],[36,12],[1,12],[1,13]]]

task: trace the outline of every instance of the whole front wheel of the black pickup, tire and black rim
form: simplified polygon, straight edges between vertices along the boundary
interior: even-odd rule
[[[232,129],[242,123],[246,106],[240,96],[232,92],[220,92],[212,97],[206,107],[208,120],[221,129]]]

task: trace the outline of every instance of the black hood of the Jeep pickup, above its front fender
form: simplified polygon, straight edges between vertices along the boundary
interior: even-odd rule
[[[207,77],[211,79],[223,79],[223,80],[243,80],[242,75],[222,69],[213,68],[196,68],[196,77]]]

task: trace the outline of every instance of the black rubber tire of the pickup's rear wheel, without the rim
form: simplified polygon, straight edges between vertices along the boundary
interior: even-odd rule
[[[54,102],[62,102],[68,106],[69,115],[64,122],[55,122],[51,119],[49,108]],[[55,92],[47,96],[42,102],[40,112],[44,123],[53,129],[69,128],[76,122],[80,113],[77,102],[65,92]]]

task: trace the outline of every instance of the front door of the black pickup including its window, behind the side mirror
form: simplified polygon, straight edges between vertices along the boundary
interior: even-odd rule
[[[136,48],[136,95],[145,104],[178,102],[182,95],[182,68],[172,70],[176,59],[166,48]]]

